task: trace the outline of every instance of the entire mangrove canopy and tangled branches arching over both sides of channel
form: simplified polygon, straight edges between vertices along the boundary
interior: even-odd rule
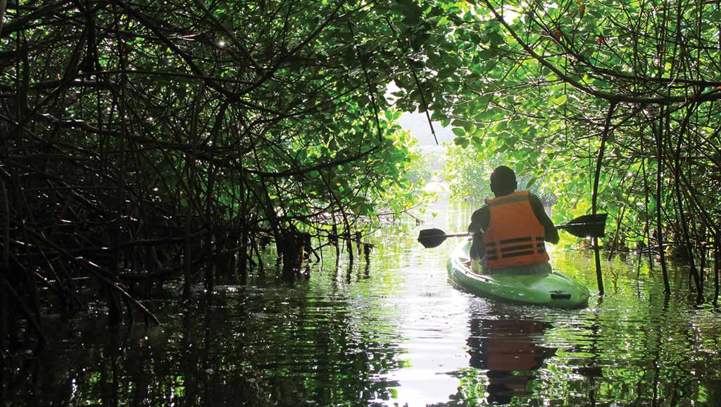
[[[507,164],[556,221],[608,213],[590,290],[631,253],[717,308],[721,1],[1,0],[1,357],[88,298],[162,324],[168,287],[373,261],[433,200],[412,112],[455,197]]]

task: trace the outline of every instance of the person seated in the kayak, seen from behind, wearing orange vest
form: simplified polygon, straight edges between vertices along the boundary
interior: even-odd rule
[[[508,271],[550,272],[545,242],[558,243],[558,231],[541,200],[516,191],[516,174],[498,166],[490,176],[492,200],[471,215],[471,267],[477,274]]]

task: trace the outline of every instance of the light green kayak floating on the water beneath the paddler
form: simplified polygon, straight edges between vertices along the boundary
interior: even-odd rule
[[[588,288],[559,272],[518,274],[498,270],[476,274],[470,265],[471,241],[456,248],[448,259],[448,278],[468,292],[510,303],[556,308],[585,308]]]

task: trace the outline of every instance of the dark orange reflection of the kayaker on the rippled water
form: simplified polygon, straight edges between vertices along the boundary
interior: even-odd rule
[[[544,321],[514,318],[472,318],[467,340],[471,367],[487,370],[488,403],[510,403],[513,396],[531,394],[535,371],[552,357],[556,348],[541,346]]]

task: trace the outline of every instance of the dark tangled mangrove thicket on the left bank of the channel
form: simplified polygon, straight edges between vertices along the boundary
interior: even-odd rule
[[[196,270],[211,289],[216,274],[262,272],[268,241],[292,278],[310,241],[350,244],[379,212],[423,202],[412,140],[384,98],[432,28],[413,1],[2,11],[2,267],[40,270],[65,311],[80,303],[70,282],[89,274],[113,323],[122,300],[149,315],[123,283],[182,272],[190,299]],[[9,285],[37,298],[34,283]],[[25,310],[5,293],[0,340],[6,310]]]

